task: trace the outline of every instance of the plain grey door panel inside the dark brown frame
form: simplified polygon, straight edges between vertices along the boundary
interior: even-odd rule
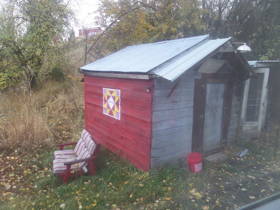
[[[210,154],[221,148],[225,83],[207,83],[203,131],[203,151]]]

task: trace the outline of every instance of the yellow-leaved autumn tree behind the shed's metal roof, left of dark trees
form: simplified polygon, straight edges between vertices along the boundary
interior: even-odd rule
[[[205,28],[200,12],[195,0],[103,0],[97,24],[104,30],[87,54],[98,59],[129,45],[196,35]]]

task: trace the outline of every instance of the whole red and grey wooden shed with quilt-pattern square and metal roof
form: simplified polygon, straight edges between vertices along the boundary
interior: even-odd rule
[[[230,37],[130,46],[81,67],[86,129],[138,169],[236,138],[242,83],[256,76]]]

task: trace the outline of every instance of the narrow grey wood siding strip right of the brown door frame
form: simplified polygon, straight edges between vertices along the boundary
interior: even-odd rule
[[[233,83],[233,92],[232,92],[232,103],[231,103],[231,113],[230,113],[230,122],[227,133],[227,143],[236,141],[237,138],[237,127],[238,120],[242,103],[242,87],[243,81],[238,76],[235,76]]]

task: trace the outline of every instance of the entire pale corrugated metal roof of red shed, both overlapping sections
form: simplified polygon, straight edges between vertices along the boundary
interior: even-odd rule
[[[207,34],[130,46],[83,66],[81,69],[101,72],[147,73],[158,67],[153,71],[154,74],[173,81],[231,37],[215,40],[209,38],[210,36]],[[165,63],[167,61],[170,62]]]

